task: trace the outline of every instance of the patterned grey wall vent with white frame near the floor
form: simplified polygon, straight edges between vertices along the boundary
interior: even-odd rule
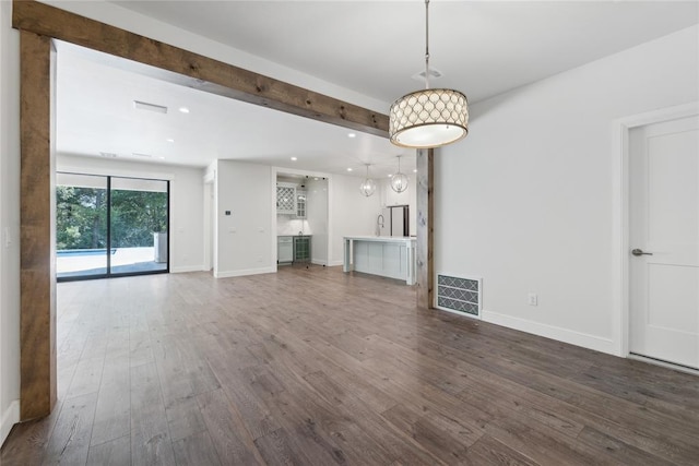
[[[483,279],[437,274],[436,308],[481,319]]]

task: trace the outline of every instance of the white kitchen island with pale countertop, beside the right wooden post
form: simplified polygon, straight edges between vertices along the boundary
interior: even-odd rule
[[[415,284],[415,238],[388,236],[344,237],[343,272],[363,272]]]

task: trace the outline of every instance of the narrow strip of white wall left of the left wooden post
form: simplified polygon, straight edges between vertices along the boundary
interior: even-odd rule
[[[11,16],[12,3],[0,1],[0,444],[20,420],[20,35]]]

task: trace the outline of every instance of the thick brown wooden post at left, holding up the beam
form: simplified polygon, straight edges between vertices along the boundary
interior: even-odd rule
[[[28,420],[48,416],[57,396],[51,39],[23,31],[20,52],[20,418]]]

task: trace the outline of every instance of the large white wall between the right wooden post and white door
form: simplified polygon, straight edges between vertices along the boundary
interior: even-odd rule
[[[472,107],[435,156],[435,260],[483,277],[485,320],[615,353],[613,121],[697,100],[698,44],[695,26]]]

